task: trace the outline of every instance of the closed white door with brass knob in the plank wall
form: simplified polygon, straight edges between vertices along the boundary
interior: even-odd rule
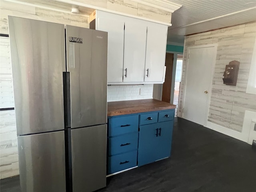
[[[188,48],[183,118],[206,125],[217,46]]]

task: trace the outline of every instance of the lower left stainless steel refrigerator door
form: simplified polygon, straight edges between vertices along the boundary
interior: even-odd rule
[[[65,192],[64,131],[18,137],[22,192]]]

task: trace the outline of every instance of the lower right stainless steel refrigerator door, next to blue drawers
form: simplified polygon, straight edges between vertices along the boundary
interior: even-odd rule
[[[71,130],[73,192],[106,186],[106,124]]]

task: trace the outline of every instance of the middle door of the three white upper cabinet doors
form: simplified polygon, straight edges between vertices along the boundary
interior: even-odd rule
[[[125,22],[123,82],[144,81],[146,30],[146,26],[135,21]]]

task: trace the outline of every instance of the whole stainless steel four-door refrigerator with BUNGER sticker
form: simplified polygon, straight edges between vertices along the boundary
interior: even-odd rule
[[[107,33],[8,22],[22,191],[106,186]]]

